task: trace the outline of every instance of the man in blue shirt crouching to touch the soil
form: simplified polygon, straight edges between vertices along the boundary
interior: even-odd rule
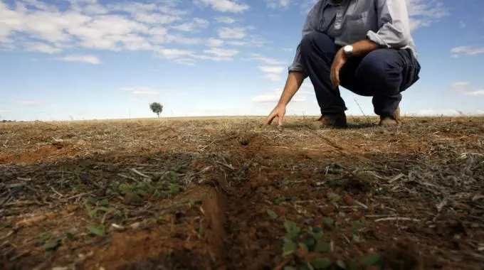
[[[310,77],[322,126],[347,127],[339,86],[373,97],[382,126],[399,125],[401,92],[419,80],[420,64],[410,34],[406,0],[319,0],[302,28],[278,104],[265,120],[278,117]]]

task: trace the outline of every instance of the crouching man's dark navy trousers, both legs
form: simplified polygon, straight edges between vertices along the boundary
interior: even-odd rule
[[[325,33],[313,32],[302,38],[302,66],[310,77],[321,113],[347,110],[340,89],[332,87],[332,61],[340,46]],[[340,70],[340,85],[357,95],[373,97],[374,113],[393,115],[401,102],[401,92],[419,80],[420,65],[410,50],[377,49],[361,57],[349,58]]]

